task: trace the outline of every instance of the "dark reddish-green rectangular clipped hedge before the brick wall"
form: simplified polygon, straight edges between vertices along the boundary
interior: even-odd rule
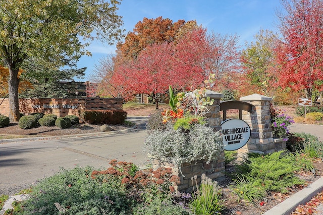
[[[127,118],[123,110],[80,110],[79,115],[89,124],[123,124]]]

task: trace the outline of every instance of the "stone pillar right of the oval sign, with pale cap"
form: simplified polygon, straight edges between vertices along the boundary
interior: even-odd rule
[[[270,102],[271,97],[253,94],[241,97],[240,101],[254,105],[251,113],[243,111],[242,119],[251,128],[251,136],[248,143],[238,150],[238,156],[246,153],[268,154],[275,151],[275,141],[271,127]]]

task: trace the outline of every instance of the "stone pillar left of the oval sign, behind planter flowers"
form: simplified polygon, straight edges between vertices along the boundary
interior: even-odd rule
[[[208,121],[208,126],[215,131],[221,130],[221,114],[220,114],[220,99],[223,98],[222,93],[206,90],[206,97],[214,99],[212,105],[207,106],[209,113],[205,114]]]

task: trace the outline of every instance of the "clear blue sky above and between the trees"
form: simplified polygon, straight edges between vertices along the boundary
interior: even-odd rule
[[[208,32],[237,34],[239,44],[253,41],[254,34],[262,29],[276,31],[275,11],[281,7],[280,0],[123,0],[118,15],[123,17],[123,28],[133,31],[144,17],[163,17],[177,22],[196,20]],[[116,45],[106,46],[93,41],[88,47],[92,56],[81,57],[78,67],[87,67],[85,79],[93,71],[98,60],[115,53]]]

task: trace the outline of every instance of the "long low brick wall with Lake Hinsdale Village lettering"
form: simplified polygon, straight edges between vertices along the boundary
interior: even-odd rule
[[[1,99],[2,101],[2,99]],[[116,98],[38,98],[19,99],[19,110],[30,113],[52,113],[58,117],[79,116],[79,110],[122,110],[122,99]],[[9,116],[9,99],[0,105],[0,114]]]

